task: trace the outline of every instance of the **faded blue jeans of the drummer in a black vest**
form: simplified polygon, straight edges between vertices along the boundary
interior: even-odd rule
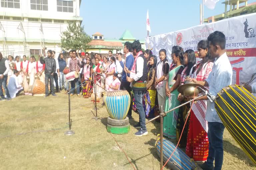
[[[139,112],[139,122],[140,122],[140,128],[143,130],[146,130],[146,118],[145,118],[145,111],[142,104],[142,98],[144,95],[144,91],[133,91],[134,95],[134,103],[136,105],[136,108]]]

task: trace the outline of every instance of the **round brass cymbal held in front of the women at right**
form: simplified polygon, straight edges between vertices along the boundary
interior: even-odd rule
[[[194,83],[194,82],[186,82],[185,84],[181,85],[178,87],[178,92],[183,94],[184,96],[197,96],[199,92],[201,91],[199,88],[196,87],[201,87],[202,89],[205,89],[204,86]]]

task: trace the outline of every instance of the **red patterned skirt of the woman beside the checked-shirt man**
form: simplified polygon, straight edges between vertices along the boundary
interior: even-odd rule
[[[186,154],[195,161],[206,161],[208,150],[209,141],[207,132],[201,126],[194,112],[191,110]]]

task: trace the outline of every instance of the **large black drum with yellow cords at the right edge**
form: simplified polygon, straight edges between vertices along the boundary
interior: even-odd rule
[[[243,86],[231,85],[217,94],[215,109],[229,133],[256,164],[256,98]]]

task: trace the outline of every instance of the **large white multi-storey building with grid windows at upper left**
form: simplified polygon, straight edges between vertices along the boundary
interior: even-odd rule
[[[0,51],[3,56],[61,50],[68,22],[81,24],[81,0],[0,0]]]

